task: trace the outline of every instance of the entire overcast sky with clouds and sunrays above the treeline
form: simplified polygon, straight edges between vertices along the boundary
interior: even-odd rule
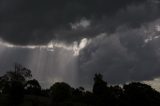
[[[160,0],[0,0],[0,75],[14,63],[43,87],[89,88],[101,73],[158,89]]]

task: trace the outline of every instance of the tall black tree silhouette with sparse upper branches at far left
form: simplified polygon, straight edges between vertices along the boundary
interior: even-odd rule
[[[1,90],[8,95],[12,105],[21,103],[24,96],[24,85],[27,78],[31,78],[31,71],[20,64],[0,78]]]

